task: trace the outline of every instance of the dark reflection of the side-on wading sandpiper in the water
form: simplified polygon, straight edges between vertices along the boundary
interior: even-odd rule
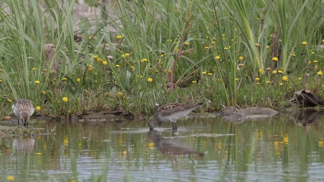
[[[187,143],[178,141],[177,138],[166,138],[155,129],[150,129],[148,134],[154,146],[162,153],[175,155],[197,154],[204,156],[204,153],[194,150]]]

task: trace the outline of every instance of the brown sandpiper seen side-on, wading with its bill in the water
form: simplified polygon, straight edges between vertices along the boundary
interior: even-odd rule
[[[177,119],[187,118],[188,114],[195,108],[203,104],[166,104],[157,108],[156,112],[150,117],[147,124],[150,129],[153,129],[155,125],[161,125],[162,122],[171,122],[172,128],[177,131]]]

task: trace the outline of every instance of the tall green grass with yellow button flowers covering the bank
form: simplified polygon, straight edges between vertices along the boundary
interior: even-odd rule
[[[276,109],[306,88],[306,73],[310,89],[322,87],[324,7],[318,0],[89,1],[100,13],[77,24],[74,1],[44,2],[2,4],[2,116],[20,97],[51,117],[119,104],[150,114],[155,103],[170,102],[202,102],[207,111]],[[75,34],[82,40],[75,42]],[[46,67],[49,42],[56,50]],[[55,60],[58,73],[51,70]]]

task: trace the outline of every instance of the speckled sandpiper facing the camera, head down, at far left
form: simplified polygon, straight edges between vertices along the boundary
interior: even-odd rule
[[[29,118],[35,111],[32,102],[27,99],[18,99],[12,105],[12,110],[18,117],[18,126],[19,120],[21,120],[24,123],[24,126],[28,127]]]

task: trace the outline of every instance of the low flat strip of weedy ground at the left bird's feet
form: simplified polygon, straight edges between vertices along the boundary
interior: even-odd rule
[[[23,126],[0,126],[0,137],[9,135],[41,135],[41,134],[55,134],[55,127],[53,128],[25,128]]]

